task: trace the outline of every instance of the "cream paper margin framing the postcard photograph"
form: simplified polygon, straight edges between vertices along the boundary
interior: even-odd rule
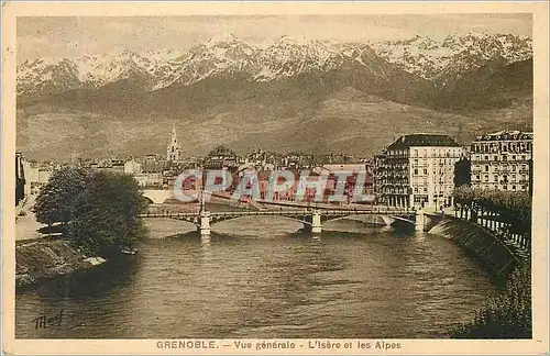
[[[7,354],[540,354],[548,353],[548,10],[540,2],[4,2],[2,3],[2,352]],[[391,13],[531,13],[534,38],[535,187],[532,213],[534,338],[530,341],[386,340],[399,349],[309,349],[309,340],[290,340],[288,349],[234,347],[160,349],[158,340],[15,340],[14,338],[14,155],[15,23],[18,16],[132,16],[215,14],[391,14]],[[257,340],[250,340],[255,343]],[[261,340],[262,341],[262,340]],[[277,340],[284,341],[284,340]],[[340,340],[341,343],[358,340]],[[376,340],[364,340],[373,342]]]

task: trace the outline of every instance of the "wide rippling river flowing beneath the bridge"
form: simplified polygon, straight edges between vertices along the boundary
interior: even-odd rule
[[[444,337],[495,291],[452,242],[426,233],[243,218],[210,240],[151,219],[130,263],[16,294],[21,338]],[[183,233],[175,235],[177,233]],[[61,325],[36,329],[63,310]]]

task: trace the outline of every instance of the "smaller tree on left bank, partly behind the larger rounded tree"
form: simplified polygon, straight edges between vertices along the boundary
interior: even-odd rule
[[[62,167],[55,170],[48,182],[41,189],[34,203],[36,221],[47,224],[66,225],[73,218],[76,199],[85,190],[90,175],[80,167]]]

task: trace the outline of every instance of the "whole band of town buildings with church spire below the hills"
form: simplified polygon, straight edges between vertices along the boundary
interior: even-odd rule
[[[503,130],[480,135],[471,145],[463,146],[449,135],[414,133],[400,136],[375,157],[345,154],[315,155],[302,152],[278,154],[261,148],[238,155],[220,145],[205,156],[185,157],[177,138],[176,126],[167,144],[166,155],[145,157],[107,157],[103,159],[73,159],[69,163],[35,162],[16,153],[15,204],[28,193],[36,193],[52,173],[63,166],[80,166],[132,175],[143,189],[173,189],[176,177],[188,169],[223,169],[233,177],[244,171],[257,174],[261,198],[270,173],[307,169],[311,176],[327,176],[327,192],[337,189],[338,175],[352,171],[364,175],[363,197],[366,201],[389,207],[451,207],[453,190],[463,185],[473,188],[505,191],[531,191],[532,133]],[[353,177],[348,177],[348,202],[353,200]],[[187,182],[188,183],[188,182]],[[198,189],[196,186],[186,187]],[[234,186],[232,187],[234,188]],[[228,190],[231,190],[229,188]],[[297,187],[276,199],[294,200]],[[306,190],[306,200],[315,196]]]

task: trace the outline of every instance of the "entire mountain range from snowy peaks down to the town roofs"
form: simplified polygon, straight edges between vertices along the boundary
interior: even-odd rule
[[[370,155],[410,132],[466,143],[503,124],[529,129],[532,41],[284,36],[258,46],[229,34],[189,51],[25,60],[16,93],[18,148],[41,159],[162,153],[172,122],[189,155],[220,143]]]

